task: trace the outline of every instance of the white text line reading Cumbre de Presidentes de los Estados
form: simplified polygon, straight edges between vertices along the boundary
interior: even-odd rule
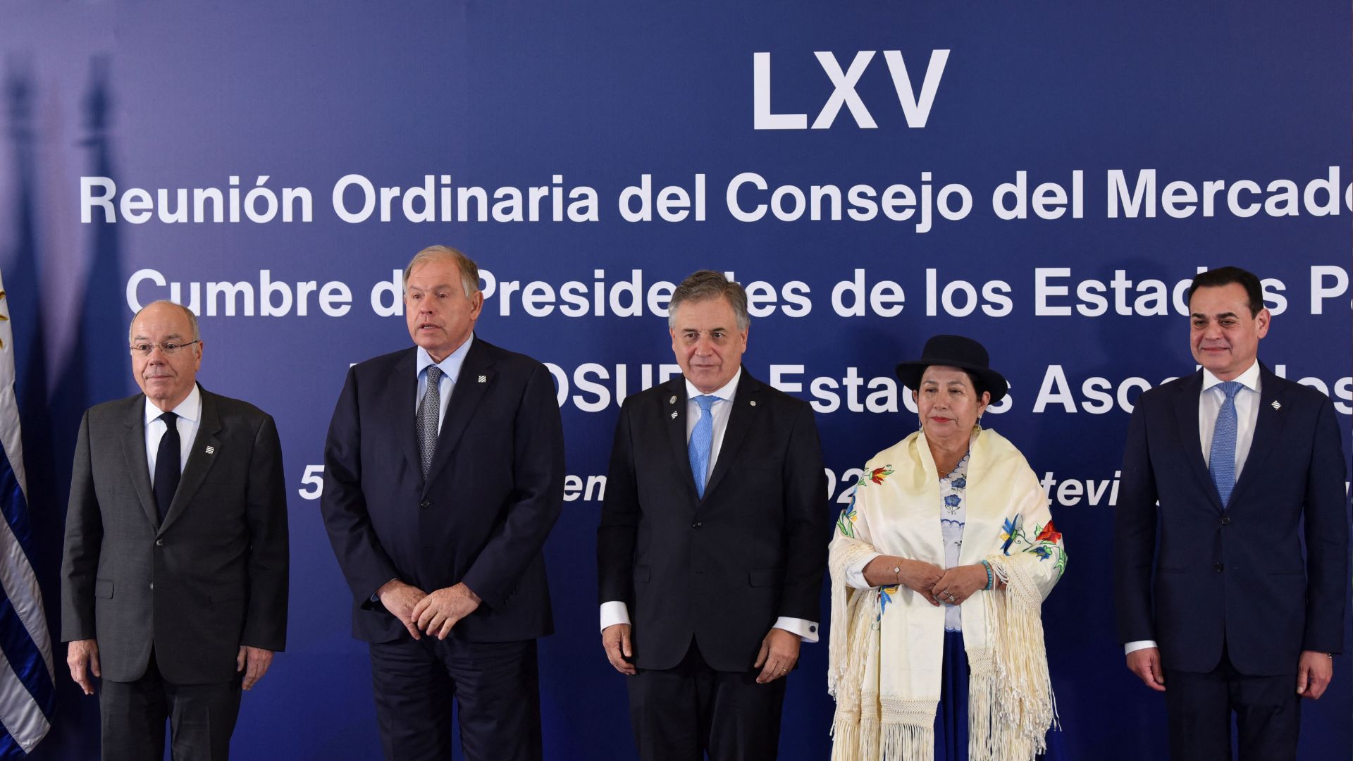
[[[1206,271],[1197,267],[1197,272]],[[502,317],[525,313],[529,317],[667,317],[667,303],[676,286],[671,280],[645,282],[643,269],[629,269],[628,278],[610,279],[605,269],[593,269],[593,280],[566,280],[557,286],[544,280],[499,279],[490,269],[479,271],[487,309]],[[724,274],[737,280],[736,272]],[[1101,317],[1188,314],[1185,295],[1191,278],[1172,283],[1154,278],[1132,279],[1126,269],[1115,269],[1107,280],[1074,279],[1069,267],[1034,268],[1035,317]],[[1349,295],[1349,271],[1344,267],[1315,264],[1310,267],[1310,313],[1323,314],[1330,299]],[[1287,284],[1268,278],[1264,301],[1273,314],[1287,311]],[[747,311],[752,317],[806,317],[813,311],[812,287],[802,280],[774,284],[766,280],[743,283]],[[403,274],[392,269],[369,292],[371,310],[377,317],[403,314]],[[1015,313],[1015,290],[1007,280],[970,282],[950,278],[939,268],[924,269],[923,302],[927,317],[940,313],[967,317],[977,310],[988,317]],[[183,303],[198,316],[304,317],[317,306],[329,317],[342,317],[352,309],[353,290],[340,280],[287,282],[273,279],[271,269],[260,269],[257,280],[169,280],[158,269],[138,269],[127,280],[127,306],[137,311],[156,299]],[[497,302],[497,306],[492,306]],[[875,280],[865,268],[831,287],[831,307],[838,317],[897,317],[907,309],[907,288],[896,280]]]

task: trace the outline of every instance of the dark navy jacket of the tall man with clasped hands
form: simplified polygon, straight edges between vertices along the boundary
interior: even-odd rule
[[[452,636],[510,642],[553,632],[541,547],[563,508],[564,437],[549,371],[475,337],[426,482],[414,437],[417,349],[348,371],[325,443],[321,510],[353,593],[353,636],[409,636],[371,597],[399,578],[464,582],[483,600]]]

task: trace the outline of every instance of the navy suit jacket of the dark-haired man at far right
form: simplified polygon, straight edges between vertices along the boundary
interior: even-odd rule
[[[1224,639],[1241,673],[1292,673],[1302,650],[1344,647],[1338,418],[1327,397],[1261,366],[1254,440],[1223,508],[1199,439],[1201,389],[1199,371],[1146,391],[1132,413],[1115,515],[1119,639],[1154,639],[1165,668],[1185,672],[1215,668]]]

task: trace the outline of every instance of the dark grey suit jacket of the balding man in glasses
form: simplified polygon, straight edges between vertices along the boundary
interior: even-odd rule
[[[61,639],[97,639],[103,678],[156,664],[172,684],[235,677],[241,645],[287,643],[287,492],[281,444],[258,408],[202,390],[202,424],[164,523],[146,466],[145,395],[80,424]]]

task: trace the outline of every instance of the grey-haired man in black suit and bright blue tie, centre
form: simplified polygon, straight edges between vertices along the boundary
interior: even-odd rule
[[[817,640],[827,482],[812,408],[741,366],[747,294],[672,292],[682,375],[625,399],[597,531],[602,646],[644,760],[775,758],[785,676]]]

